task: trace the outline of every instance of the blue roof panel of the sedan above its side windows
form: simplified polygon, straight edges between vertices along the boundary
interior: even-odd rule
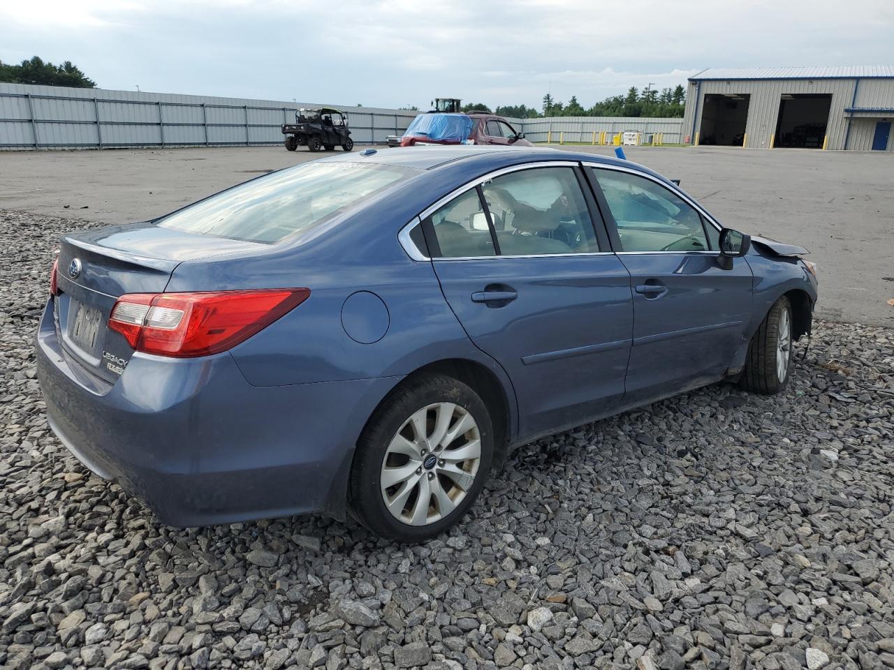
[[[364,149],[358,154],[333,155],[321,159],[321,162],[326,163],[378,163],[429,171],[457,163],[468,163],[470,166],[472,163],[475,163],[476,166],[482,163],[494,163],[494,167],[500,167],[501,165],[536,161],[587,161],[589,163],[626,165],[642,172],[654,174],[642,165],[619,158],[548,147],[447,145],[441,147],[375,148]]]

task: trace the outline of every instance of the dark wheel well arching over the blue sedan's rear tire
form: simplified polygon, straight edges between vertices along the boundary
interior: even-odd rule
[[[467,384],[481,397],[488,413],[491,415],[491,423],[493,423],[493,445],[495,450],[493,467],[495,469],[502,467],[511,435],[510,410],[509,400],[506,398],[506,393],[497,376],[480,363],[475,363],[465,358],[447,358],[423,365],[414,370],[406,379],[392,389],[392,393],[394,390],[400,389],[404,384],[427,374],[446,374]],[[384,398],[382,403],[386,402],[387,399],[387,397]],[[380,403],[380,406],[382,403]]]

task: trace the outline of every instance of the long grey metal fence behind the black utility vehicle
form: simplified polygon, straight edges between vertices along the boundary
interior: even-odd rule
[[[319,103],[0,83],[0,149],[280,144],[280,126]],[[357,144],[401,134],[417,112],[342,107]]]

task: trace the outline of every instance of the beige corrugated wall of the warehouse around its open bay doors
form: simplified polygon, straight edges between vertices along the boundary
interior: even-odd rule
[[[747,146],[769,148],[779,120],[782,94],[831,94],[829,122],[826,127],[827,148],[868,151],[873,145],[875,122],[881,121],[881,113],[854,113],[848,133],[849,113],[845,109],[854,100],[856,80],[730,80],[689,82],[686,115],[683,119],[684,135],[695,141],[700,131],[704,112],[704,96],[711,94],[747,94],[748,121],[746,124]],[[697,101],[697,105],[692,101]],[[894,80],[860,80],[857,88],[856,107],[894,107]],[[894,114],[891,114],[894,116]],[[889,150],[894,151],[894,142]]]

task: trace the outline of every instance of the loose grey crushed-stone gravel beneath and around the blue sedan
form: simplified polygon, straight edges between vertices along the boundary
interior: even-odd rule
[[[820,322],[778,398],[713,386],[522,448],[423,546],[181,531],[46,426],[31,339],[70,228],[0,212],[0,666],[894,667],[894,331]]]

